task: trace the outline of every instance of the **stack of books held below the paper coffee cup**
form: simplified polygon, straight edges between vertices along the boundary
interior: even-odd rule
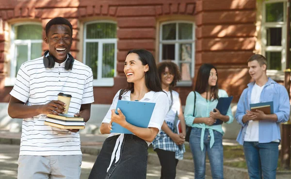
[[[85,129],[85,122],[82,117],[75,117],[68,114],[47,114],[45,125],[61,129]]]

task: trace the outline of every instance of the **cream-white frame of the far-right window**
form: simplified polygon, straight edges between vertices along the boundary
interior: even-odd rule
[[[266,22],[266,4],[283,2],[283,22]],[[262,54],[266,56],[267,52],[281,52],[281,70],[267,70],[268,76],[274,78],[284,76],[283,70],[286,69],[286,39],[287,39],[287,0],[264,0],[262,3],[262,28],[261,28],[261,49]],[[282,41],[281,46],[267,46],[267,31],[266,28],[282,28]]]

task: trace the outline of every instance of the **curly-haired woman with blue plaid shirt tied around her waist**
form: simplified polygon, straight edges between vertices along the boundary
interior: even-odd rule
[[[186,136],[185,120],[182,112],[179,94],[173,90],[181,79],[178,66],[173,62],[162,62],[158,65],[162,89],[168,95],[170,107],[162,125],[161,132],[152,142],[157,152],[162,170],[160,179],[175,179],[178,160],[183,159]],[[178,116],[181,123],[181,133],[175,129],[175,119]]]

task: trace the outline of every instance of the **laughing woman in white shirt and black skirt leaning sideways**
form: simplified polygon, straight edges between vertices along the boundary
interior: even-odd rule
[[[104,117],[100,131],[110,134],[92,168],[89,179],[146,179],[147,147],[161,130],[169,101],[162,91],[153,55],[144,49],[130,50],[124,62],[128,87],[120,96],[120,90]],[[129,124],[122,111],[117,109],[121,100],[155,103],[147,128]],[[133,134],[111,133],[112,122],[128,129]]]

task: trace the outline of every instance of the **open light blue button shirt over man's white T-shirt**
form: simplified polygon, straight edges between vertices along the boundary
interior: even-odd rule
[[[237,137],[237,141],[241,145],[243,145],[244,135],[248,125],[248,122],[242,122],[242,117],[246,114],[246,110],[250,110],[249,106],[254,85],[255,82],[251,82],[243,90],[235,114],[236,120],[242,125],[242,129]],[[268,78],[260,95],[260,102],[268,101],[273,101],[274,114],[277,115],[278,120],[276,122],[271,120],[259,121],[259,143],[269,143],[277,139],[281,140],[279,123],[288,121],[290,116],[290,100],[286,88],[270,78]]]

